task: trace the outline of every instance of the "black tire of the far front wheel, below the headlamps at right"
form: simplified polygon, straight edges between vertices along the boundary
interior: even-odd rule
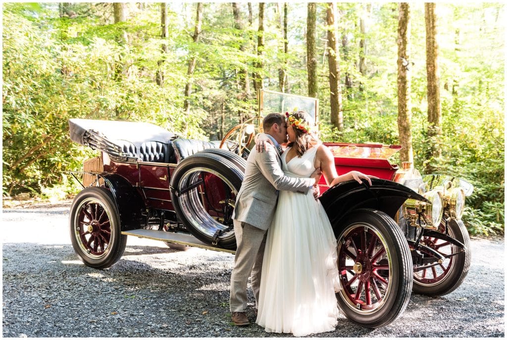
[[[442,229],[441,232],[444,232],[445,221],[443,221],[440,226]],[[449,272],[446,275],[439,275],[439,277],[442,276],[442,278],[439,278],[436,282],[424,284],[420,276],[414,273],[414,286],[412,288],[414,293],[427,296],[449,294],[461,285],[466,274],[468,274],[472,253],[470,251],[470,237],[468,236],[466,226],[461,220],[451,219],[448,223],[448,231],[449,236],[464,244],[465,250],[452,257],[452,262],[448,263],[448,266],[451,266]],[[449,249],[450,251],[447,251],[446,254],[455,253],[458,249],[457,246],[452,246]],[[446,262],[444,262],[443,265],[445,266]],[[446,266],[446,268],[448,268],[448,266]]]

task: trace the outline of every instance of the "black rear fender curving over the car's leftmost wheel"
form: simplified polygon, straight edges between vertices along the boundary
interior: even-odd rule
[[[122,231],[141,228],[142,212],[146,209],[146,204],[137,189],[118,174],[101,173],[98,176],[104,179],[107,188],[113,194],[120,214]]]

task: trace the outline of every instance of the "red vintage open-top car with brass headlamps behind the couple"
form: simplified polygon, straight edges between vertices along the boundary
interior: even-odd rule
[[[259,115],[235,126],[222,141],[180,138],[141,122],[70,119],[70,139],[98,157],[74,172],[83,190],[70,210],[70,236],[90,267],[122,256],[127,236],[234,253],[231,215],[245,158],[265,112],[304,109],[318,101],[271,91],[259,93]],[[447,294],[465,278],[469,237],[461,215],[473,186],[455,176],[425,175],[389,158],[401,147],[324,143],[338,173],[372,174],[372,185],[348,181],[319,198],[337,239],[339,306],[351,321],[385,326],[405,310],[410,294]]]

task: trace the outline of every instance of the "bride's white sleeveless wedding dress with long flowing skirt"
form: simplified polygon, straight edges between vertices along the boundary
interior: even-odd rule
[[[287,149],[288,150],[288,149]],[[287,176],[309,177],[317,147],[285,162]],[[312,191],[281,191],[268,229],[257,323],[267,332],[305,336],[335,329],[338,306],[336,240]]]

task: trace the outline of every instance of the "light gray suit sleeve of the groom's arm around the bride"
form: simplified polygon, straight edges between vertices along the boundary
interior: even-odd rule
[[[280,168],[276,151],[273,147],[268,147],[263,153],[257,153],[256,161],[264,177],[276,190],[303,192],[306,194],[310,190],[310,187],[315,184],[315,179],[313,178],[286,176]]]

